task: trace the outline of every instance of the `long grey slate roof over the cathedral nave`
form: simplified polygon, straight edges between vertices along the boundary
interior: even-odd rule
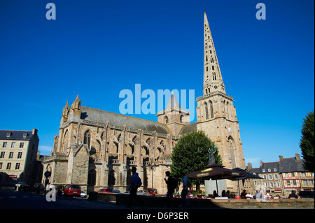
[[[123,127],[127,124],[128,128],[132,129],[144,129],[146,131],[156,131],[160,134],[169,134],[169,131],[165,124],[153,122],[149,120],[142,120],[137,117],[130,117],[127,115],[120,115],[118,113],[111,113],[106,110],[99,110],[96,108],[89,108],[81,106],[81,120],[87,120],[92,122],[114,124]]]

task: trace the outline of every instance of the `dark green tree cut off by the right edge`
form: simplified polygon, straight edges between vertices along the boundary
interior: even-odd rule
[[[303,119],[300,148],[304,159],[304,168],[314,172],[314,110]]]

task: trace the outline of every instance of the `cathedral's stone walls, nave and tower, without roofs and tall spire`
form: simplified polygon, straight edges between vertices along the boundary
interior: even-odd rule
[[[197,104],[197,130],[204,131],[218,145],[223,165],[245,168],[232,98],[226,94],[211,94],[197,100]],[[169,117],[176,117],[179,123],[175,124],[181,127],[180,115],[169,114]],[[143,182],[141,188],[154,187],[158,193],[165,194],[165,171],[170,170],[169,156],[177,140],[178,137],[171,134],[130,129],[126,125],[118,127],[109,122],[73,122],[62,117],[52,157],[64,156],[66,160],[50,158],[55,171],[54,182],[76,183],[87,187],[87,192],[104,187],[125,192],[130,183],[130,169],[136,166]],[[76,154],[76,151],[79,152]],[[152,165],[155,166],[151,168]],[[227,187],[235,187],[235,183],[227,182]]]

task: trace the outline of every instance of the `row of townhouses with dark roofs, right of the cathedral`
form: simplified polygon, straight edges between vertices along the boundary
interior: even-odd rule
[[[248,163],[247,170],[263,178],[251,180],[254,189],[264,188],[268,192],[288,196],[292,190],[314,191],[314,173],[305,170],[303,163],[304,159],[295,153],[295,157],[290,158],[279,156],[279,161],[275,162],[260,161],[259,168],[252,168],[251,163]]]

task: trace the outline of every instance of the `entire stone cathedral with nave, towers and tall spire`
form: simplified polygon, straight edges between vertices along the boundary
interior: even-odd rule
[[[196,130],[215,142],[224,166],[245,168],[233,98],[225,93],[206,13],[203,96],[197,98],[196,115],[197,122],[186,122],[189,112],[174,94],[157,114],[158,122],[81,106],[77,96],[62,110],[59,135],[43,161],[43,172],[51,172],[49,180],[55,186],[76,184],[87,192],[108,187],[125,192],[130,169],[136,166],[144,189],[153,187],[165,194],[165,171],[170,170],[174,145],[182,134]],[[225,180],[224,189],[236,192],[236,183]]]

